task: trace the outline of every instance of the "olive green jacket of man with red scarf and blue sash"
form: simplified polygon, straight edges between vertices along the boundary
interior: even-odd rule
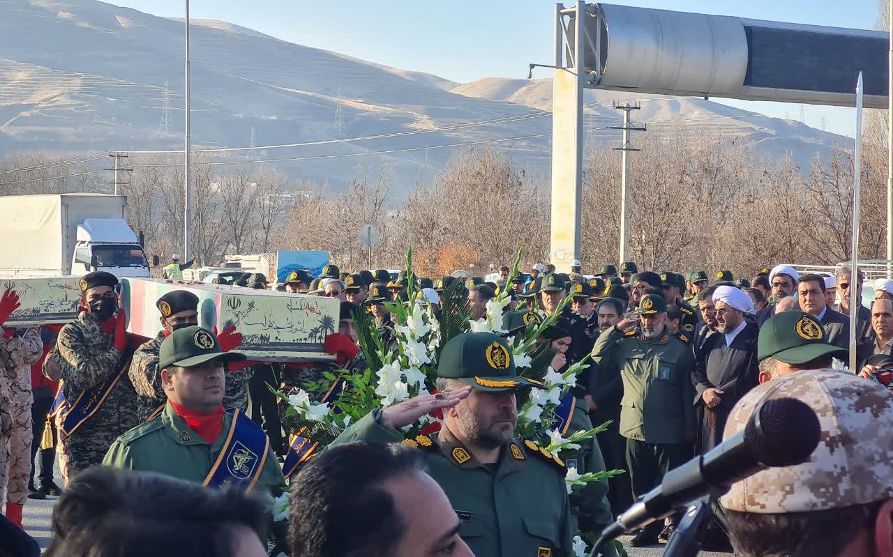
[[[209,445],[188,428],[186,421],[174,412],[171,403],[167,403],[161,414],[118,437],[108,453],[105,453],[103,465],[158,472],[203,483],[220,456],[230,431],[232,417],[232,412],[226,413],[221,435],[213,445]],[[254,489],[263,489],[274,496],[285,490],[282,468],[272,449],[267,452],[263,470]]]

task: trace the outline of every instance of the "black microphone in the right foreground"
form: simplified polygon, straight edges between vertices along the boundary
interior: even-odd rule
[[[819,445],[820,435],[819,418],[807,404],[795,398],[768,400],[747,420],[744,431],[667,472],[660,486],[602,531],[599,542],[662,520],[682,505],[715,495],[717,489],[724,494],[760,470],[804,462]]]

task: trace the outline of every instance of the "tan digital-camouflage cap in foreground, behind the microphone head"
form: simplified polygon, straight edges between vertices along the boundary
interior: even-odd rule
[[[773,379],[739,400],[724,438],[743,431],[764,401],[791,397],[819,417],[822,436],[808,461],[768,468],[733,484],[731,511],[825,511],[893,498],[893,396],[847,371],[805,370]]]

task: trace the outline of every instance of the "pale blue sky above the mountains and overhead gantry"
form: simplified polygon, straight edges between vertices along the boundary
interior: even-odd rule
[[[614,3],[859,29],[872,29],[878,19],[876,0]],[[165,17],[183,16],[182,0],[118,0],[115,4]],[[544,0],[191,0],[189,4],[194,18],[229,21],[301,45],[460,82],[486,77],[526,78],[528,63],[551,63],[554,5]],[[538,77],[548,76],[548,71],[538,71]],[[798,104],[721,102],[800,120]],[[854,134],[852,109],[807,105],[803,113],[803,121],[810,126],[822,128],[824,119],[828,131]]]

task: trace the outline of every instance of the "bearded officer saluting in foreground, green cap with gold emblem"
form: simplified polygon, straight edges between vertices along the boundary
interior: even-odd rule
[[[458,335],[440,354],[438,395],[371,412],[335,444],[399,443],[405,439],[402,428],[442,410],[438,434],[404,442],[424,452],[431,478],[459,516],[459,536],[474,554],[569,557],[572,521],[564,463],[536,442],[513,436],[515,395],[530,387],[534,384],[517,374],[511,348],[502,338]]]

